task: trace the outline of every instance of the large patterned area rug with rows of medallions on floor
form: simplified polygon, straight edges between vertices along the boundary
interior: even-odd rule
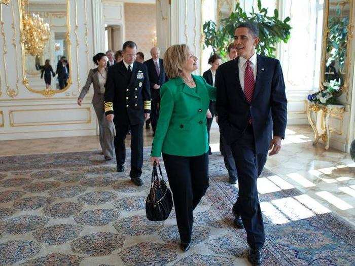
[[[227,182],[223,157],[210,156],[210,186],[183,253],[174,212],[164,222],[145,216],[149,152],[140,187],[128,177],[129,150],[125,173],[98,152],[0,157],[0,265],[248,265],[246,236],[231,214],[237,186]],[[277,178],[265,169],[260,179],[270,176]],[[264,265],[353,265],[349,224],[302,204],[295,188],[274,191],[260,195]]]

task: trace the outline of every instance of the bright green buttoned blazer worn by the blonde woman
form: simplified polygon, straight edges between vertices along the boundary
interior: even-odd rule
[[[199,75],[192,75],[196,88],[174,78],[160,88],[160,111],[152,144],[153,157],[161,153],[199,156],[208,151],[206,111],[216,99],[216,88]]]

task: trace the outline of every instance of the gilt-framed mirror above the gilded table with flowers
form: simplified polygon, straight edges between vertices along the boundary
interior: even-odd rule
[[[325,0],[321,89],[331,87],[340,96],[348,89],[348,52],[352,37],[353,0]]]

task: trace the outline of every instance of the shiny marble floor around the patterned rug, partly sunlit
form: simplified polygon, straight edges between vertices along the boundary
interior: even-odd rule
[[[350,156],[322,144],[312,146],[312,131],[309,126],[289,126],[280,153],[269,157],[266,167],[275,175],[258,180],[259,193],[277,192],[298,188],[303,195],[262,203],[264,215],[275,222],[288,222],[306,218],[302,204],[313,214],[333,212],[355,226],[355,163]],[[130,137],[126,144],[129,146]],[[145,146],[152,142],[151,131],[145,130]],[[66,153],[99,149],[97,136],[66,137],[50,139],[0,141],[0,156]],[[212,151],[219,153],[219,130],[217,124],[211,129]],[[302,204],[299,204],[299,203]],[[299,211],[280,214],[289,205],[297,205]],[[294,208],[297,210],[297,208]]]

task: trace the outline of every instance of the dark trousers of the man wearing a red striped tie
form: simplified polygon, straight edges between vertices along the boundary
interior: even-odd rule
[[[238,171],[238,200],[233,206],[243,221],[246,240],[251,248],[262,248],[265,241],[257,178],[266,163],[266,154],[255,153],[253,127],[248,125],[242,137],[231,144]]]

